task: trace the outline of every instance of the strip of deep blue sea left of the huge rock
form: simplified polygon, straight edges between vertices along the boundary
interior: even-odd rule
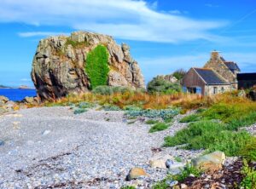
[[[36,96],[37,92],[35,89],[0,89],[0,95],[6,96],[9,100],[18,101],[26,96]]]

